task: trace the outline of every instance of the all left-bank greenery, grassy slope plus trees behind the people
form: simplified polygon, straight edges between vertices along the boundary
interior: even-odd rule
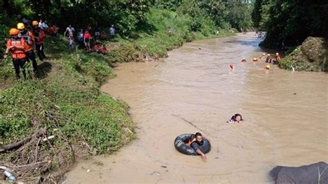
[[[12,169],[24,181],[39,178],[41,182],[53,182],[76,157],[112,153],[131,141],[134,124],[127,104],[101,93],[100,85],[115,76],[112,66],[117,62],[166,57],[167,50],[185,42],[233,35],[250,27],[251,4],[209,3],[3,1],[2,40],[8,38],[9,28],[19,19],[38,15],[62,30],[69,24],[66,20],[75,23],[75,28],[98,21],[102,28],[114,24],[118,34],[116,42],[103,42],[110,50],[107,55],[69,50],[62,36],[47,38],[45,53],[49,59],[39,63],[39,73],[33,80],[15,80],[11,60],[0,62],[0,165]],[[241,21],[240,17],[248,18]],[[171,36],[167,34],[170,26]],[[55,138],[43,141],[53,135]],[[4,150],[20,140],[25,141]],[[21,165],[24,167],[17,167]]]

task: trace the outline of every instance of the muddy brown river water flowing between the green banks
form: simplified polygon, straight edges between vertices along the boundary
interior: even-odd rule
[[[259,42],[255,33],[207,39],[164,62],[120,64],[101,90],[130,105],[138,138],[81,160],[64,183],[272,183],[276,165],[327,162],[327,73],[265,73],[264,60],[251,62]],[[244,122],[226,123],[234,113]],[[210,138],[207,163],[174,148],[176,136],[199,131],[182,118]]]

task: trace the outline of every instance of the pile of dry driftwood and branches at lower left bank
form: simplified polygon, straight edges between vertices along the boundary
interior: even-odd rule
[[[56,183],[75,160],[71,143],[58,127],[55,127],[55,135],[49,136],[47,129],[39,128],[32,136],[0,147],[3,154],[0,165],[12,172],[18,181]],[[55,145],[52,140],[61,145]]]

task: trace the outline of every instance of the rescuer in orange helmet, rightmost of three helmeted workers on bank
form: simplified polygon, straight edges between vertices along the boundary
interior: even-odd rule
[[[37,21],[32,22],[33,26],[33,35],[35,37],[35,49],[37,50],[37,56],[41,61],[46,59],[46,55],[44,55],[44,37],[46,37],[46,33],[42,28],[39,28],[39,24]]]

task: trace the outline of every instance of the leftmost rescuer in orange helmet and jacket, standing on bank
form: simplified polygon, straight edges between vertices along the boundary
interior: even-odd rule
[[[15,67],[15,73],[17,80],[20,78],[19,76],[19,68],[22,69],[24,79],[26,79],[26,72],[25,72],[25,63],[28,61],[26,58],[25,50],[26,50],[26,43],[24,38],[18,37],[19,30],[16,28],[11,28],[9,30],[9,35],[12,37],[8,39],[7,48],[3,55],[3,58],[7,58],[8,52],[10,51],[12,57],[12,63]]]

